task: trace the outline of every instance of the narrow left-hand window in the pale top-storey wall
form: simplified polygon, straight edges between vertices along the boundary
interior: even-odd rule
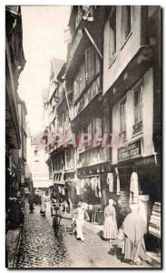
[[[112,59],[116,52],[116,8],[112,12],[109,23],[109,57]]]

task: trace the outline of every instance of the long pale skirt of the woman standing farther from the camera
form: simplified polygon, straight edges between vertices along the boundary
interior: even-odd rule
[[[105,217],[103,223],[103,238],[116,239],[118,232],[117,224],[113,222],[112,216]]]

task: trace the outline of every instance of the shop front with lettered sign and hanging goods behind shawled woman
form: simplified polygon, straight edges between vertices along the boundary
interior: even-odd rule
[[[119,179],[118,226],[130,212],[130,204],[137,203],[139,212],[147,224],[145,242],[148,250],[160,248],[161,230],[161,162],[155,154],[142,157],[142,138],[118,149],[118,164],[114,165],[114,177]],[[157,205],[156,205],[157,204]],[[155,212],[153,212],[155,208]],[[151,216],[154,219],[154,224]],[[158,217],[158,218],[157,218]],[[151,231],[152,230],[152,231]],[[151,244],[152,242],[152,244]]]

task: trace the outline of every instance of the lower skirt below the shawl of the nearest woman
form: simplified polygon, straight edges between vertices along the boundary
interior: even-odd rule
[[[137,246],[134,246],[130,238],[126,237],[124,241],[124,258],[131,259],[133,262],[137,262],[139,258],[146,260],[144,238],[139,241]]]

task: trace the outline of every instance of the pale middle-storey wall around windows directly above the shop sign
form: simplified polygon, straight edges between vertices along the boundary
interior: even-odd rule
[[[132,136],[132,126],[134,125],[134,101],[133,101],[133,87],[126,93],[126,143],[143,139],[143,157],[151,156],[153,153],[152,143],[152,121],[153,121],[153,76],[152,68],[150,68],[143,76],[142,89],[142,134]],[[123,98],[123,97],[122,97]],[[112,134],[119,136],[121,133],[120,122],[120,102],[117,102],[112,107]],[[118,138],[117,138],[118,139]],[[118,142],[114,143],[112,147],[112,164],[118,163]]]

